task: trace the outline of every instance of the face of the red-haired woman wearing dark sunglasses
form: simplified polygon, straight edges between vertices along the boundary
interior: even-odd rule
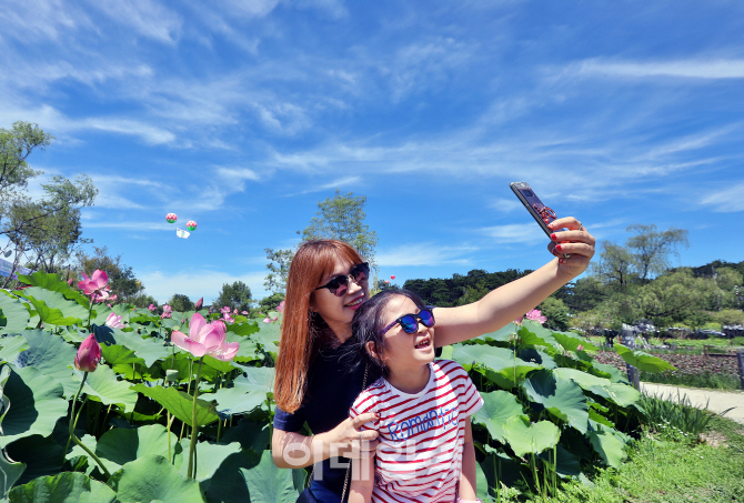
[[[346,260],[338,260],[333,271],[323,276],[316,288],[328,284],[329,281],[339,275],[349,275],[354,265],[356,264]],[[323,288],[315,290],[310,301],[311,309],[318,312],[331,330],[333,330],[333,333],[343,341],[351,336],[351,320],[354,318],[354,311],[370,295],[369,278],[364,280],[360,279],[359,283],[349,279],[348,284],[349,288],[340,296],[331,292],[331,290]],[[343,288],[339,289],[339,292],[342,290]]]

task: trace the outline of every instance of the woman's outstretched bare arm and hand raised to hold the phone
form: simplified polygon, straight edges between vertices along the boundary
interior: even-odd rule
[[[594,256],[592,234],[585,229],[579,230],[581,223],[572,217],[555,220],[550,227],[569,229],[556,232],[555,240],[551,242],[560,243],[561,259],[553,259],[531,274],[493,290],[477,302],[458,308],[438,308],[434,312],[438,346],[501,329],[586,270]],[[570,253],[571,258],[563,258],[565,253]]]

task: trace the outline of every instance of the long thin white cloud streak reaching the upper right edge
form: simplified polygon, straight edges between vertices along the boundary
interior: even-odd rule
[[[572,66],[572,71],[593,77],[684,79],[744,79],[744,59],[682,59],[658,61],[612,61],[589,59]]]

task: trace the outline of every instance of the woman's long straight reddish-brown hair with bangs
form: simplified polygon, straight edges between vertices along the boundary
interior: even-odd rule
[[[274,378],[274,400],[285,412],[293,413],[302,404],[316,345],[334,336],[323,319],[310,310],[310,303],[315,288],[339,261],[364,262],[343,241],[315,240],[302,244],[290,264]]]

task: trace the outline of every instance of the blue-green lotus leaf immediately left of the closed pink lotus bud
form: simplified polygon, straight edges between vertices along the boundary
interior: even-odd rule
[[[57,334],[43,330],[27,330],[23,338],[29,349],[11,362],[17,368],[32,366],[49,379],[62,384],[64,396],[72,396],[80,388],[80,382],[72,379],[70,369],[78,352]]]

